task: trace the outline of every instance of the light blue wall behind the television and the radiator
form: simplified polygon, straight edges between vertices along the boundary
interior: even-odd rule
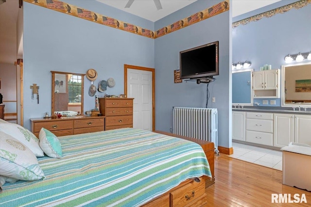
[[[196,1],[158,22],[155,29],[202,11],[220,1]],[[207,84],[183,81],[174,83],[174,70],[179,68],[179,51],[219,41],[220,75],[209,84],[208,108],[218,109],[219,145],[231,147],[231,67],[230,12],[224,12],[194,25],[155,39],[155,128],[170,131],[173,107],[206,107]],[[211,102],[211,97],[216,102]]]

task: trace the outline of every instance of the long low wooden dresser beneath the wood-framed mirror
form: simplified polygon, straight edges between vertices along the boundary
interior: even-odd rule
[[[82,134],[96,131],[104,131],[104,117],[90,116],[82,118],[57,118],[44,119],[32,118],[31,131],[36,137],[39,137],[39,132],[42,127],[50,130],[58,136]]]

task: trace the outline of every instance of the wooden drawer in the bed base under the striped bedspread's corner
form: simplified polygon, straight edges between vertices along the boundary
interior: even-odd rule
[[[205,193],[205,179],[187,185],[171,192],[171,202],[173,207],[191,206],[191,202]]]

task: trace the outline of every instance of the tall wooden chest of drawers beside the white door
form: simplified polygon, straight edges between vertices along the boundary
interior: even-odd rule
[[[105,130],[133,127],[134,98],[99,98],[99,108],[105,116]]]

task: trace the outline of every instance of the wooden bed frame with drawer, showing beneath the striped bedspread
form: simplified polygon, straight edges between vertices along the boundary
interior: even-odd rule
[[[207,202],[205,189],[215,183],[214,177],[214,155],[215,147],[214,143],[204,140],[198,140],[190,137],[180,136],[164,131],[154,131],[155,133],[165,134],[172,137],[178,137],[181,139],[189,140],[194,143],[198,143],[202,146],[212,173],[212,177],[202,176],[200,181],[197,182],[192,179],[188,179],[172,190],[160,195],[159,197],[144,204],[142,207],[199,207]]]

